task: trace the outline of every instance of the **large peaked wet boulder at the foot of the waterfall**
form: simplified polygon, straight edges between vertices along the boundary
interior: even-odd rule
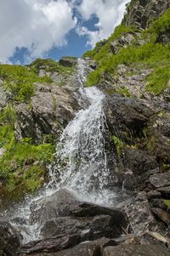
[[[66,189],[61,189],[56,191],[52,196],[33,202],[31,204],[30,220],[31,224],[39,223],[44,225],[48,220],[56,219],[58,217],[72,216],[77,218],[88,218],[99,215],[111,216],[112,225],[113,223],[116,225],[118,224],[118,229],[120,229],[121,226],[127,225],[125,215],[122,211],[116,208],[105,208],[94,203],[81,202],[77,196]],[[71,221],[74,222],[73,219]]]

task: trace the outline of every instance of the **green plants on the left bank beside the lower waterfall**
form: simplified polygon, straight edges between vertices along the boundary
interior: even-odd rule
[[[54,145],[33,145],[31,139],[17,141],[14,136],[15,111],[8,105],[0,113],[0,195],[20,198],[42,185],[45,164],[53,161]]]

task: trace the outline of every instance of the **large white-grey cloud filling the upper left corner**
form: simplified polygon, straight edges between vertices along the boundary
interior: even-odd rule
[[[42,56],[64,45],[76,25],[65,0],[0,0],[0,61],[7,62],[16,48],[27,48],[30,58]]]

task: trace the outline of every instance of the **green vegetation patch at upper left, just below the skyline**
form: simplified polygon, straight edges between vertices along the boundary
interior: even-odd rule
[[[26,66],[0,65],[0,77],[11,100],[27,101],[34,94],[34,82],[52,82],[49,77],[38,77]]]

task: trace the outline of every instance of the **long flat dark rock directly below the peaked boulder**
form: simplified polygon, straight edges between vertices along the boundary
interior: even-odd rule
[[[102,236],[115,238],[121,234],[121,224],[117,223],[114,217],[108,215],[83,218],[56,218],[48,220],[41,230],[43,238],[78,235],[81,237],[81,242],[91,241]]]

